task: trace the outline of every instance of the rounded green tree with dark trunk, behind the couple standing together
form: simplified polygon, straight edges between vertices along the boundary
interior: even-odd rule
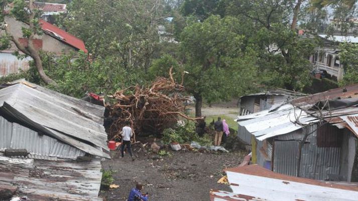
[[[184,86],[196,99],[195,116],[201,116],[203,98],[213,102],[239,96],[256,77],[256,54],[242,52],[244,36],[235,18],[211,16],[186,27],[181,35]]]

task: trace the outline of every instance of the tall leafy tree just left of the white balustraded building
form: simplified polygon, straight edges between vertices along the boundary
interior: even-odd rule
[[[226,13],[240,21],[246,47],[258,55],[261,83],[268,87],[300,90],[310,83],[308,58],[316,45],[314,40],[300,38],[292,27],[296,6],[291,0],[227,2]]]

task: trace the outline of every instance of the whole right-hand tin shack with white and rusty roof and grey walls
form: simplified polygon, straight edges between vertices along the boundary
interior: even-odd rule
[[[274,172],[356,181],[358,85],[301,97],[238,116],[238,137],[252,145],[252,162]]]

